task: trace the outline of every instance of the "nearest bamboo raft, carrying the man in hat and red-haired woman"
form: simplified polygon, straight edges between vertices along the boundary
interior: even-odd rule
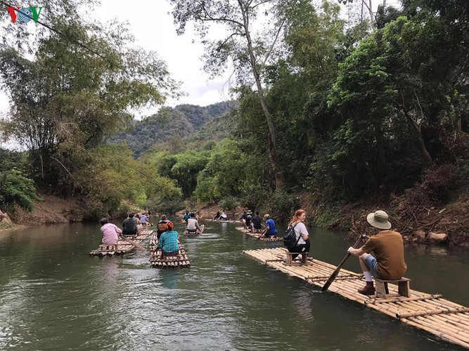
[[[336,268],[334,265],[313,258],[308,258],[308,265],[285,265],[283,258],[286,252],[284,248],[243,251],[269,267],[319,287],[326,283]],[[356,291],[364,286],[364,282],[363,274],[342,269],[328,290],[399,319],[405,324],[423,329],[443,340],[469,348],[468,307],[452,303],[441,295],[431,295],[412,289],[411,297],[406,298],[397,293],[396,285],[391,284],[387,298],[365,296]]]

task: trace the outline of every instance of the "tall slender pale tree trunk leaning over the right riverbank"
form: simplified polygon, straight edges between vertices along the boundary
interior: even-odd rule
[[[250,64],[252,67],[252,73],[254,74],[254,79],[256,81],[257,92],[259,93],[259,100],[261,102],[262,111],[264,112],[264,116],[266,117],[267,126],[269,127],[269,161],[271,161],[272,168],[274,168],[274,175],[275,175],[275,188],[276,190],[283,189],[283,175],[281,173],[280,167],[278,166],[278,161],[276,157],[276,133],[274,122],[272,121],[272,115],[269,111],[269,107],[267,107],[267,103],[264,96],[264,89],[262,88],[261,79],[259,76],[259,72],[257,71],[256,65],[256,58],[254,55],[254,50],[252,48],[252,39],[250,36],[249,30],[249,19],[248,13],[243,6],[243,1],[238,0],[238,4],[241,9],[241,13],[243,13],[243,23],[245,29],[246,40],[248,41],[248,53]]]

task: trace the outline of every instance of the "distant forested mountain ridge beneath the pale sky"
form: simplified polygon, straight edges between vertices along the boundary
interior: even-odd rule
[[[168,136],[185,138],[197,133],[210,121],[222,119],[226,112],[236,106],[237,102],[229,101],[205,107],[188,104],[165,107],[143,121],[132,121],[129,131],[118,133],[110,138],[110,142],[127,141],[134,156],[139,157],[152,145],[165,143]]]

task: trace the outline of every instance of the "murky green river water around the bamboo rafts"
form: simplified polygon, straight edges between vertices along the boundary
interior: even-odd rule
[[[1,232],[0,350],[461,350],[242,253],[281,243],[207,227],[181,237],[191,268],[177,270],[151,268],[148,251],[90,257],[94,223]],[[311,256],[340,263],[351,243],[309,231]],[[412,289],[469,306],[467,252],[407,246],[406,262]]]

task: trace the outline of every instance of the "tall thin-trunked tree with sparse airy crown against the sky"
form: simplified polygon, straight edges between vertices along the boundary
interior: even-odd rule
[[[224,71],[231,59],[236,69],[240,85],[252,85],[248,81],[254,79],[259,101],[269,128],[269,160],[274,168],[276,188],[283,187],[283,176],[276,154],[276,128],[265,98],[263,86],[266,62],[278,41],[278,36],[285,21],[285,5],[293,1],[282,0],[169,0],[174,4],[173,16],[179,27],[178,34],[183,34],[187,22],[193,21],[200,34],[205,51],[205,69],[212,74]],[[270,17],[266,15],[270,14]],[[261,24],[259,18],[264,15],[267,23]],[[252,20],[257,25],[269,28],[269,34],[255,36]],[[226,32],[224,40],[212,41],[207,38],[211,25],[223,27]],[[266,38],[270,38],[269,42]],[[249,76],[246,72],[250,72]],[[250,77],[250,79],[248,79]]]

